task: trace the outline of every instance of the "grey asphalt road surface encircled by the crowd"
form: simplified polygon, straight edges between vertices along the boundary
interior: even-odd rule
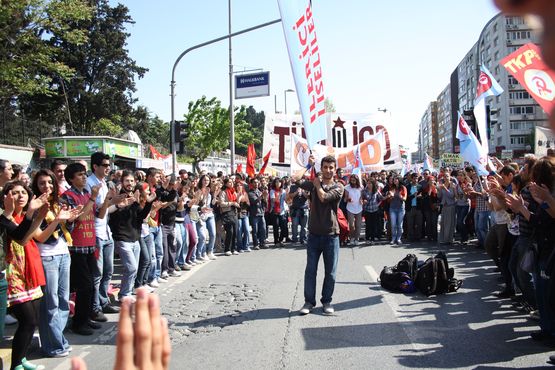
[[[439,250],[426,243],[341,248],[333,316],[324,316],[321,305],[307,316],[297,313],[306,261],[300,246],[221,256],[196,267],[158,288],[170,322],[171,368],[550,367],[550,347],[529,337],[537,323],[493,296],[499,273],[483,251],[442,246],[464,280],[456,293],[394,294],[377,282],[384,265],[407,253],[425,259]],[[318,278],[319,292],[322,273]],[[84,357],[90,370],[113,367],[116,320],[111,315],[93,338],[68,333],[72,355]],[[34,362],[69,368],[68,358]]]

